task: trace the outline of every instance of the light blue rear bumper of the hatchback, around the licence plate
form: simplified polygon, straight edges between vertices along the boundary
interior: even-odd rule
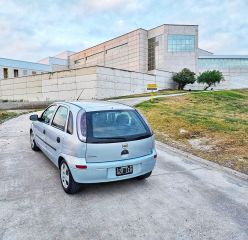
[[[86,163],[87,169],[75,168],[75,163],[73,164],[73,162],[78,163],[78,159],[74,159],[76,161],[70,159],[68,165],[73,179],[78,183],[112,182],[134,178],[151,172],[156,163],[154,155],[156,155],[155,150],[152,154],[140,158],[104,163]],[[124,176],[116,176],[116,167],[127,165],[133,165],[133,173]]]

